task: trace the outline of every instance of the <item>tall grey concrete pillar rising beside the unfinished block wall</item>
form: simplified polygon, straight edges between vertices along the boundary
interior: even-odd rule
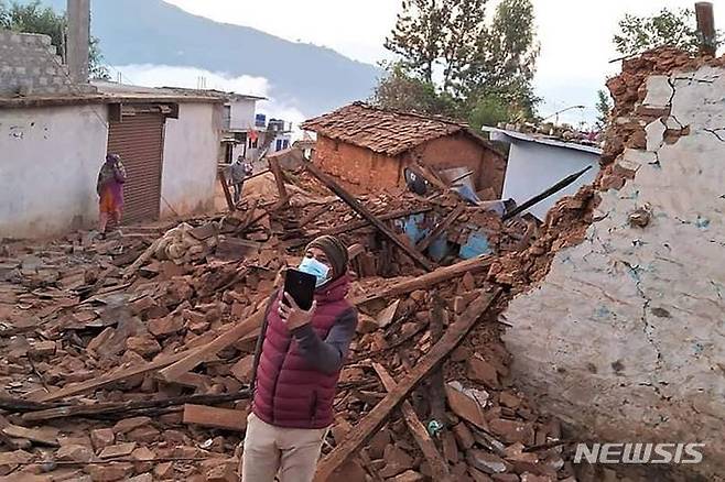
[[[68,0],[68,72],[76,84],[88,84],[90,0]]]

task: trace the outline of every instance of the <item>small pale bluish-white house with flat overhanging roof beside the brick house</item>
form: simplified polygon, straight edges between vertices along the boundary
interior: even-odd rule
[[[518,205],[543,193],[566,176],[587,166],[593,168],[550,198],[533,206],[527,212],[543,220],[559,199],[576,194],[580,187],[592,184],[599,174],[598,147],[533,136],[516,131],[484,128],[491,141],[510,144],[504,199],[513,199]]]

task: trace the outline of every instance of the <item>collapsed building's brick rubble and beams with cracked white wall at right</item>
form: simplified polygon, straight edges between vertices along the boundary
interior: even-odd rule
[[[216,217],[3,243],[0,480],[237,480],[266,300],[320,234],[349,247],[360,322],[317,481],[717,480],[724,68],[627,61],[595,185],[540,227],[413,160],[434,195],[272,168]],[[706,456],[617,473],[573,463],[587,437]]]

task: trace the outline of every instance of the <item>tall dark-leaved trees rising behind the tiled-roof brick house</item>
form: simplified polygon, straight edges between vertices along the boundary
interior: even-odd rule
[[[385,107],[455,114],[476,124],[531,118],[539,45],[530,0],[403,0],[386,47],[399,61],[374,100]]]

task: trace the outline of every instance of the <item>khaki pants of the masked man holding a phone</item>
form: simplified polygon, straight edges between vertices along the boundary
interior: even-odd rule
[[[242,482],[311,482],[329,428],[282,428],[247,418],[241,458]]]

